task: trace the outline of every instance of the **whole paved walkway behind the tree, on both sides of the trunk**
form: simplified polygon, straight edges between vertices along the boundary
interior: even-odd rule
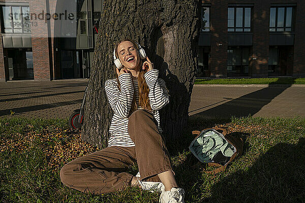
[[[0,117],[66,118],[79,109],[88,79],[0,83]],[[194,85],[189,115],[205,118],[305,117],[304,85]],[[11,110],[15,112],[11,116]]]

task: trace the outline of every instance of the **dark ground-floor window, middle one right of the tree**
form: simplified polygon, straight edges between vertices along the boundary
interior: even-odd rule
[[[228,48],[227,71],[230,76],[248,76],[249,48]]]

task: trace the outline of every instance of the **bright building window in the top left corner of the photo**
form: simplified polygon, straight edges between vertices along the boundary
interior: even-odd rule
[[[31,33],[28,6],[2,6],[1,11],[4,33]]]

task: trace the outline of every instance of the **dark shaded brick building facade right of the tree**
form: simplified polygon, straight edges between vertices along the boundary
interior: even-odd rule
[[[197,77],[305,76],[301,1],[202,1]]]

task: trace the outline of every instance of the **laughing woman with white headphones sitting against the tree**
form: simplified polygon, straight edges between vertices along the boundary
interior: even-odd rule
[[[184,202],[160,127],[158,110],[169,102],[165,82],[144,49],[130,39],[117,42],[113,57],[116,78],[105,82],[114,111],[108,147],[70,161],[60,179],[82,192],[103,194],[132,185],[161,191],[162,203]],[[139,166],[136,176],[125,172],[134,163]]]

